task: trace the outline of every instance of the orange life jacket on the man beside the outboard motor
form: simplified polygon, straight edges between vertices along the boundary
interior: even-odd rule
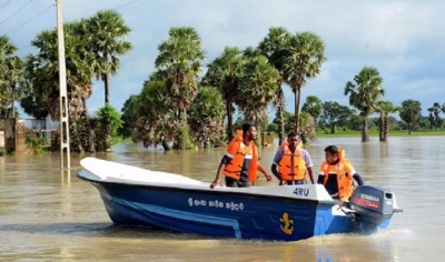
[[[353,195],[354,192],[354,181],[353,181],[353,174],[346,175],[345,173],[345,164],[349,162],[345,158],[345,150],[339,149],[338,150],[338,163],[333,165],[327,163],[326,161],[324,162],[323,171],[325,173],[325,179],[323,181],[323,184],[326,185],[327,180],[329,178],[329,173],[335,173],[337,174],[337,188],[338,188],[338,199],[342,201],[346,201]]]

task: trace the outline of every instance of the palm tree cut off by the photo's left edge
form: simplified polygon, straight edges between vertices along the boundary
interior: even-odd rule
[[[11,114],[10,118],[16,118],[14,102],[18,82],[22,75],[23,62],[16,54],[17,47],[13,46],[7,36],[0,37],[0,82],[3,82],[3,88],[10,90]],[[8,91],[8,90],[4,90]],[[8,100],[8,99],[6,99]]]

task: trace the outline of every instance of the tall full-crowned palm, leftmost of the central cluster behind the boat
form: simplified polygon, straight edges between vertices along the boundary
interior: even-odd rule
[[[177,107],[181,129],[177,139],[179,149],[186,149],[189,131],[187,109],[198,92],[198,78],[205,58],[201,40],[194,28],[170,28],[169,39],[159,44],[155,66],[165,79],[166,89]]]

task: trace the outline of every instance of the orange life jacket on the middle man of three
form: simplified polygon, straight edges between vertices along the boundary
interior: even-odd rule
[[[281,180],[303,180],[306,177],[306,161],[303,159],[301,149],[297,147],[294,153],[288,144],[283,143],[283,158],[278,164],[278,172],[281,174]]]

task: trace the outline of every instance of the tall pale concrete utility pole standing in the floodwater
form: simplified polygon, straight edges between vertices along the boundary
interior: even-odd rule
[[[60,103],[60,169],[65,168],[63,159],[67,150],[67,169],[70,163],[70,147],[69,147],[69,123],[68,123],[68,99],[67,99],[67,66],[65,61],[65,34],[62,19],[62,1],[57,2],[57,39],[59,46],[59,103]]]

